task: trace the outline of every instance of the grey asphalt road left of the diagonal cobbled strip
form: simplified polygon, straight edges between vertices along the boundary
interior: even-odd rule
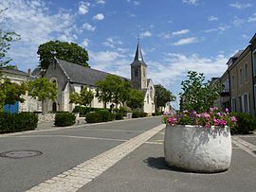
[[[23,159],[0,157],[0,191],[25,191],[160,124],[160,117],[153,117],[0,137],[0,152],[43,152]]]

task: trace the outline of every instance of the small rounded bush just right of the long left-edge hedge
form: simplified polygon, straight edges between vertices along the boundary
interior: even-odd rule
[[[76,123],[76,116],[73,113],[56,113],[54,125],[56,127],[72,126]]]

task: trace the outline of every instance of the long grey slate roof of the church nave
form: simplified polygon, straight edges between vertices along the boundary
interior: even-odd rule
[[[56,61],[60,64],[61,68],[64,70],[65,76],[67,77],[67,79],[69,79],[70,82],[94,86],[97,81],[105,79],[107,75],[113,75],[89,67],[84,67],[79,64],[74,64],[72,62],[63,61],[60,59],[56,59]],[[122,77],[120,78],[126,79]]]

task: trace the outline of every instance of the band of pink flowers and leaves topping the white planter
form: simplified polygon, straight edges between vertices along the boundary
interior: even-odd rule
[[[164,113],[163,121],[167,125],[197,125],[205,128],[234,126],[236,124],[236,117],[229,114],[229,109],[225,112],[220,111],[217,107],[210,108],[209,112],[197,113],[195,111],[182,113]]]

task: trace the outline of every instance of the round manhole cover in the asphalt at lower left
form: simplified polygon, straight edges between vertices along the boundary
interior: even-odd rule
[[[0,157],[7,157],[13,159],[21,159],[27,157],[34,157],[42,155],[43,152],[38,150],[11,150],[0,153]]]

